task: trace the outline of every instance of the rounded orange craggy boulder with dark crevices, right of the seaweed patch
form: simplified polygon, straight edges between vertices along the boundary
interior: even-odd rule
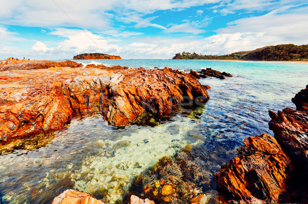
[[[239,156],[214,174],[227,200],[279,202],[292,171],[291,160],[270,135],[248,137]]]

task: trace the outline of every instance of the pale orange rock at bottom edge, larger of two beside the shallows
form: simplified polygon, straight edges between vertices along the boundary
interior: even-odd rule
[[[93,198],[90,194],[69,189],[55,197],[52,204],[104,204],[104,202]]]

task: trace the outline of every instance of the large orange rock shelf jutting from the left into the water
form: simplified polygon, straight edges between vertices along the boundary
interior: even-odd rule
[[[0,72],[0,84],[1,142],[63,129],[73,117],[96,113],[114,126],[126,126],[209,98],[197,79],[167,67],[10,70]]]

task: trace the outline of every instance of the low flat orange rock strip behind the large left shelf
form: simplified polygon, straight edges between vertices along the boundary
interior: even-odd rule
[[[82,64],[65,61],[65,62],[54,62],[48,60],[28,60],[28,59],[16,59],[16,58],[7,58],[0,63],[0,71],[8,70],[32,70],[32,69],[48,69],[50,67],[83,67]]]

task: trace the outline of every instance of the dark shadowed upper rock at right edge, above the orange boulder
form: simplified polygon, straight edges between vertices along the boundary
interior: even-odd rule
[[[292,101],[297,110],[285,108],[278,113],[269,111],[272,120],[268,125],[295,165],[308,171],[308,86],[296,94]]]

